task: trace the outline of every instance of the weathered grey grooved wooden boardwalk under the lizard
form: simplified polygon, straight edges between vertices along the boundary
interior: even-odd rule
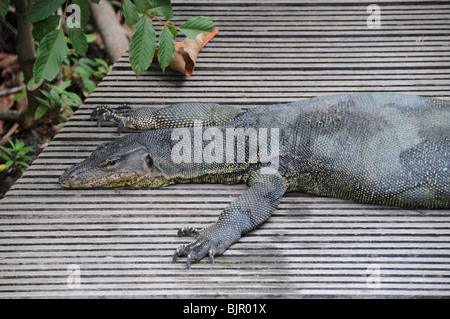
[[[0,297],[450,296],[450,211],[403,210],[293,193],[216,264],[172,263],[182,226],[204,227],[245,185],[65,190],[60,174],[117,138],[93,108],[216,102],[249,108],[331,93],[450,99],[450,3],[173,1],[176,20],[219,35],[194,75],[138,79],[124,56],[0,203]],[[79,285],[77,282],[79,278]]]

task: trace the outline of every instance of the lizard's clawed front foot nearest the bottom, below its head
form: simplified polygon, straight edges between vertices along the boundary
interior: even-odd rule
[[[191,269],[191,263],[197,262],[204,258],[206,255],[209,256],[209,260],[214,264],[214,257],[221,255],[232,243],[237,241],[233,239],[230,242],[230,237],[226,236],[225,240],[222,240],[220,233],[215,232],[212,226],[204,229],[196,229],[193,227],[183,227],[178,231],[178,236],[193,236],[195,239],[186,245],[181,245],[175,251],[173,255],[173,262],[177,261],[178,257],[186,256],[187,268]]]

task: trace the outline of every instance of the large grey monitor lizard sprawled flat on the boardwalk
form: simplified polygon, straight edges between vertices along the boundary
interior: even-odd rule
[[[177,104],[164,109],[98,107],[93,117],[123,127],[150,129],[100,146],[60,178],[67,188],[163,187],[174,183],[245,182],[249,190],[202,230],[184,227],[195,240],[177,249],[191,262],[222,254],[265,220],[285,192],[301,191],[361,203],[406,208],[450,207],[450,102],[389,93],[334,95],[241,112],[216,104]],[[196,123],[229,129],[279,129],[278,166],[261,157],[214,162],[174,162],[179,127],[198,134]],[[197,131],[196,131],[197,130]],[[200,130],[202,130],[200,128]],[[203,128],[205,130],[205,128]],[[245,131],[244,131],[245,132]],[[270,141],[270,138],[268,139]],[[208,146],[191,142],[197,147]],[[269,143],[270,147],[274,147]],[[226,145],[223,144],[224,149]],[[233,148],[235,159],[249,156]]]

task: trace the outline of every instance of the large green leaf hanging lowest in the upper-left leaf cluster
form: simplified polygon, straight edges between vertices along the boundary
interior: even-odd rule
[[[68,51],[64,31],[55,30],[48,33],[41,41],[37,59],[33,66],[34,81],[41,79],[52,81],[59,70],[61,62]]]

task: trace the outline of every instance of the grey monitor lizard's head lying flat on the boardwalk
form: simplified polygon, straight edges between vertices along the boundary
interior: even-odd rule
[[[170,160],[170,149],[162,135],[157,131],[130,134],[104,143],[88,158],[68,168],[59,182],[66,188],[157,188],[172,184],[164,164]]]

